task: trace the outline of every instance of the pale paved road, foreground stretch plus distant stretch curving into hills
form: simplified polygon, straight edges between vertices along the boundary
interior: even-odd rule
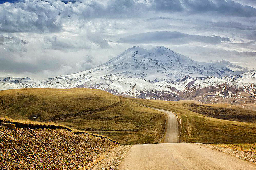
[[[119,170],[256,170],[255,164],[226,153],[193,143],[172,143],[178,141],[176,117],[160,111],[170,116],[164,141],[168,143],[132,146]]]

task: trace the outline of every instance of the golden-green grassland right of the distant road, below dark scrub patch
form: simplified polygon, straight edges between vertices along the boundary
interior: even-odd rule
[[[141,99],[131,100],[145,106],[169,110],[176,113],[178,119],[181,119],[181,124],[179,124],[181,142],[253,144],[256,141],[255,123],[237,122],[206,117],[188,109],[191,104],[201,104],[198,102],[171,102]],[[233,109],[236,108],[235,106],[233,107]]]

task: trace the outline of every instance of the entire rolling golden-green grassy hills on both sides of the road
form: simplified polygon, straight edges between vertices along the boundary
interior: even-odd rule
[[[175,112],[181,119],[182,142],[234,144],[256,141],[256,112],[234,105],[124,98],[84,88],[0,91],[2,117],[53,121],[108,136],[121,144],[162,140],[166,116],[145,106]]]

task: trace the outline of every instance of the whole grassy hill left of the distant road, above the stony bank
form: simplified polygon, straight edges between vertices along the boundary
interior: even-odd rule
[[[161,141],[166,116],[97,89],[0,91],[0,116],[33,119],[108,136],[121,144]],[[39,116],[38,116],[39,115]]]

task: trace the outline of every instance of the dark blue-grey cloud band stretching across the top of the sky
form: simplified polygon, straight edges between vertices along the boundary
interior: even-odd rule
[[[161,0],[133,1],[26,1],[0,4],[0,30],[4,32],[59,32],[65,23],[73,19],[136,18],[145,12],[183,12],[205,15],[253,17],[256,9],[234,1],[225,0]]]

